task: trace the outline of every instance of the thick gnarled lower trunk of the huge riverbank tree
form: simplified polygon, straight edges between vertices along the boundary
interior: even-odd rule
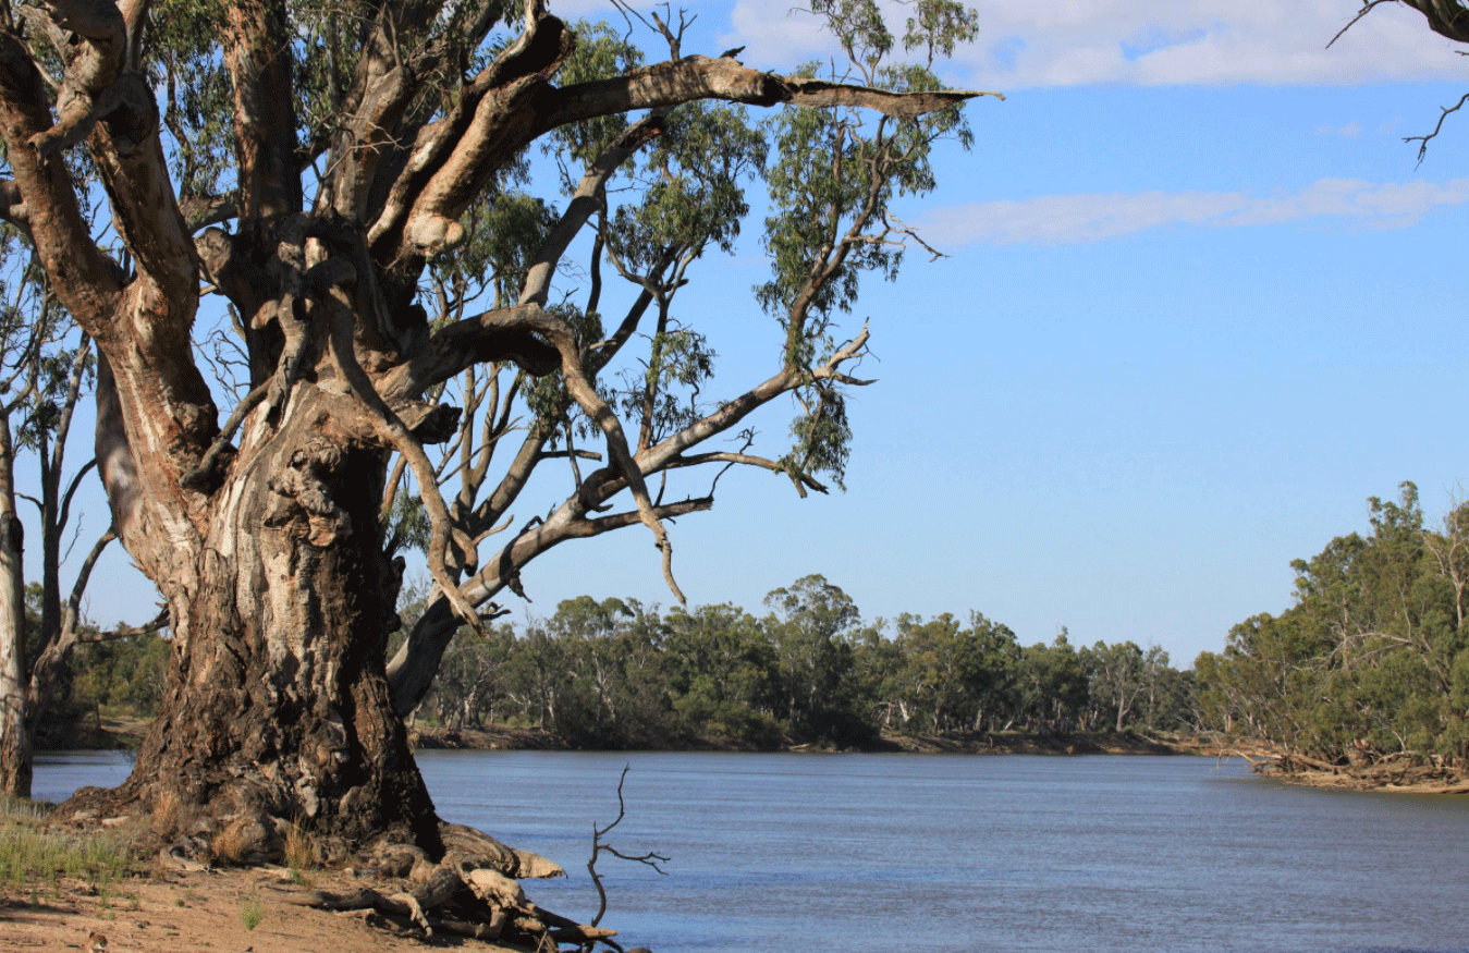
[[[163,584],[169,684],[119,794],[156,815],[266,815],[432,849],[433,805],[383,674],[403,573],[378,524],[386,451],[316,385],[273,424],[259,417],[207,535],[173,554],[191,580]]]

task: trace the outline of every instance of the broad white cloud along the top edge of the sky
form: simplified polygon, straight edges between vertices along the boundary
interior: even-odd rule
[[[984,88],[1137,84],[1354,85],[1469,79],[1469,60],[1415,10],[1385,4],[1329,50],[1356,0],[970,0],[978,43],[956,54]],[[890,22],[902,22],[898,6]],[[777,66],[834,53],[790,0],[736,0],[732,46]]]

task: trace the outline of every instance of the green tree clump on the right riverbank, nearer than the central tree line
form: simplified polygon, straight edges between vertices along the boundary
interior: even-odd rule
[[[1332,765],[1469,764],[1469,504],[1431,529],[1403,483],[1371,523],[1293,564],[1291,608],[1199,656],[1205,725]]]

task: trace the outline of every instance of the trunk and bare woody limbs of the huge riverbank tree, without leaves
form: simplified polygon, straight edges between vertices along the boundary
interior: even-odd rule
[[[777,394],[842,380],[865,345],[864,333],[815,358],[786,348],[770,380],[630,445],[591,379],[588,342],[546,307],[551,273],[602,207],[607,176],[660,134],[667,110],[695,100],[861,107],[896,129],[972,95],[780,76],[729,56],[558,85],[571,31],[532,1],[513,37],[483,46],[501,15],[488,0],[0,4],[0,214],[95,341],[98,471],[118,536],[170,615],[163,714],[112,809],[289,818],[348,844],[386,833],[441,850],[398,711],[422,697],[444,631],[476,626],[477,606],[561,539],[640,524],[667,565],[664,520],[710,501],[655,499],[646,477],[701,463],[686,451]],[[194,18],[192,43],[216,44],[197,62],[228,79],[229,191],[200,192],[160,138],[163,84],[144,69],[179,43],[169,18]],[[325,81],[311,57],[329,59]],[[170,103],[175,81],[191,79],[169,73]],[[306,103],[329,109],[307,116]],[[419,302],[426,264],[466,241],[463,219],[501,170],[551,131],[638,110],[649,112],[591,163],[519,300],[430,326]],[[75,150],[101,184],[120,256],[81,213]],[[873,189],[862,226],[812,257],[787,333],[799,336],[824,285],[871,241]],[[204,285],[229,300],[248,352],[248,395],[223,421],[194,352]],[[482,533],[433,489],[423,449],[457,420],[430,395],[476,364],[560,374],[607,454],[489,574],[474,552]],[[416,633],[389,687],[401,562],[383,551],[379,511],[394,455],[423,490],[439,627]],[[620,493],[626,512],[601,514]]]

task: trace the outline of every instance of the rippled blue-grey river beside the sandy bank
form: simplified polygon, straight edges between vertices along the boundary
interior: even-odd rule
[[[441,816],[542,853],[527,883],[657,953],[1465,952],[1469,799],[1312,790],[1238,761],[420,752]],[[115,784],[118,755],[43,755],[37,797]]]

